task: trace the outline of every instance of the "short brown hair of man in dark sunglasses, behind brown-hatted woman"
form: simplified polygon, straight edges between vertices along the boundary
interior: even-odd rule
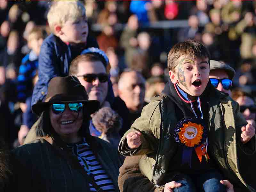
[[[70,63],[68,75],[74,75],[75,76],[77,74],[77,64],[81,61],[92,61],[92,62],[101,61],[102,63],[104,63],[103,59],[100,56],[98,56],[98,54],[86,53],[86,54],[78,55]]]

